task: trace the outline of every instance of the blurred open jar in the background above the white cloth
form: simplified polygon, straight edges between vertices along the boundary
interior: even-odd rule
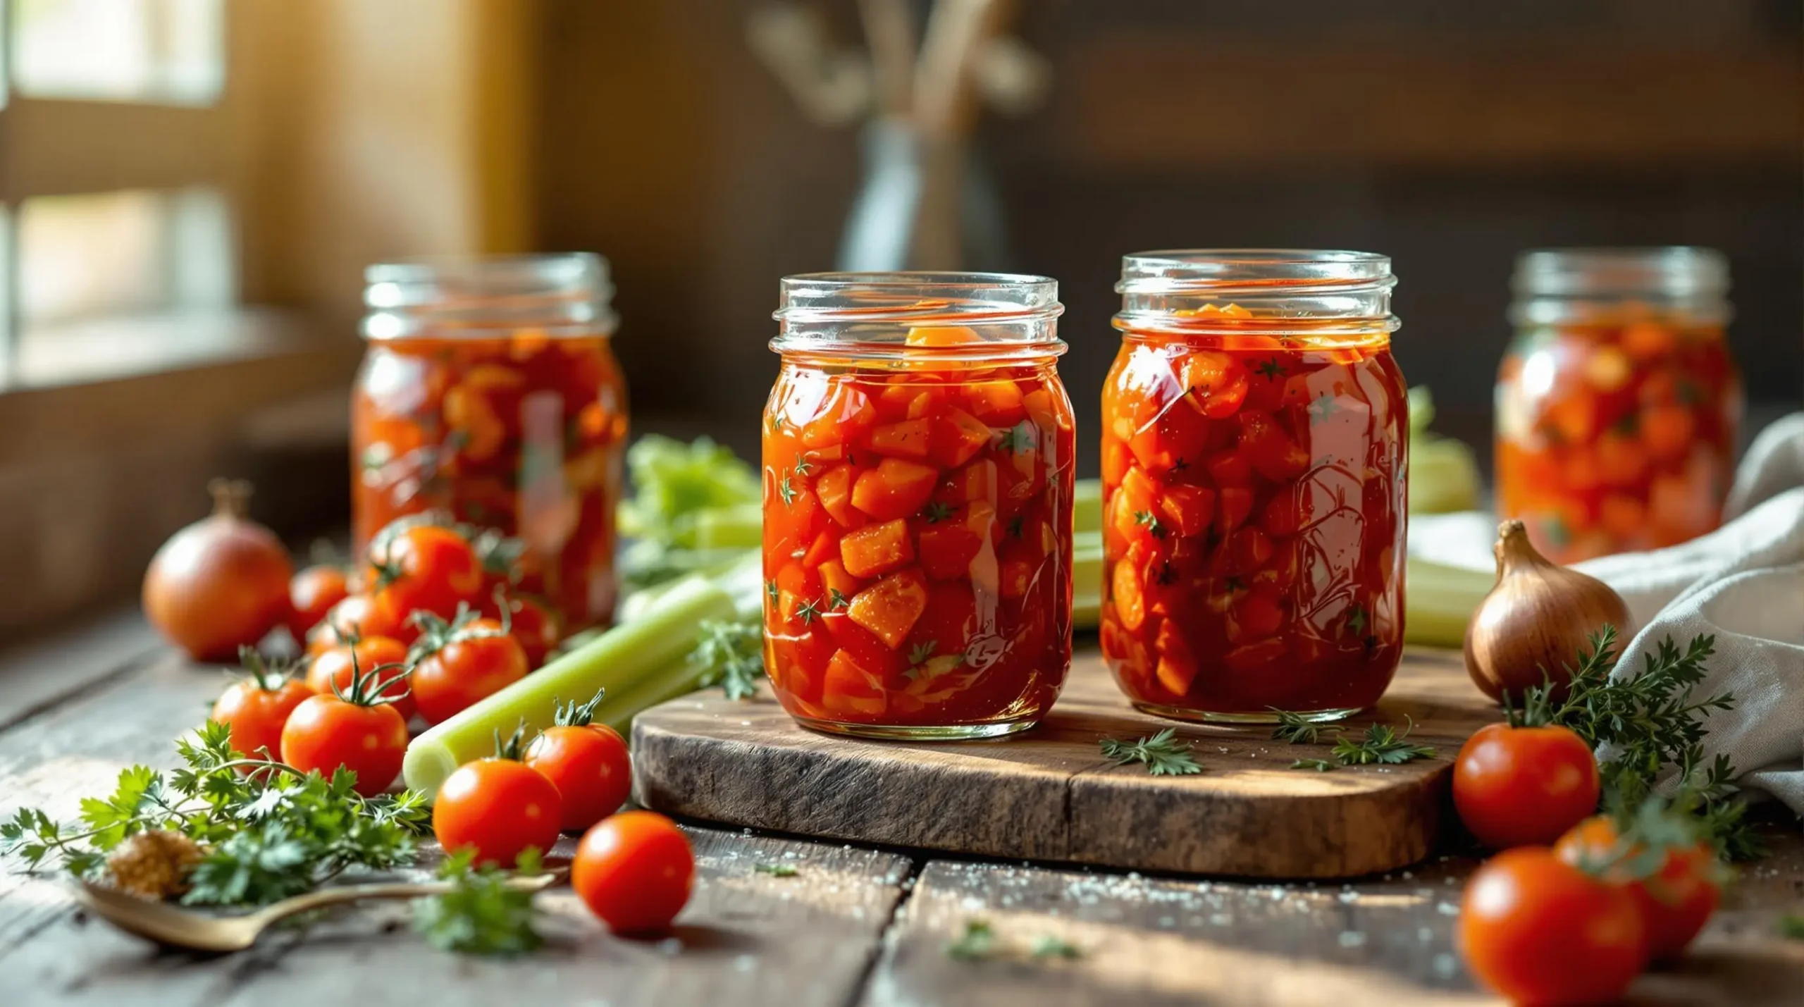
[[[1710,249],[1546,249],[1515,263],[1497,372],[1497,513],[1573,563],[1717,527],[1741,375]]]

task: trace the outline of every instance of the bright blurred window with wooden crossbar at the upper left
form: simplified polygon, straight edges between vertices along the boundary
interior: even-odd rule
[[[235,356],[226,0],[0,0],[0,390]]]

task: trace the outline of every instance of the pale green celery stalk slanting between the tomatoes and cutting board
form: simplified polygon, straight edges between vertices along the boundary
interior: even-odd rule
[[[756,583],[756,563],[752,579]],[[630,706],[635,691],[649,689],[653,682],[675,688],[671,670],[682,666],[695,648],[698,623],[740,617],[741,599],[732,594],[738,587],[736,581],[722,587],[705,577],[684,577],[637,621],[608,630],[413,738],[402,763],[408,787],[437,794],[438,785],[458,765],[492,753],[496,731],[507,734],[521,720],[527,722],[527,731],[548,727],[557,700],[583,700],[606,688],[608,698],[603,700],[597,720],[613,720],[619,711],[628,711],[624,716],[631,718],[631,713],[642,709]],[[693,684],[691,675],[689,688]],[[655,691],[667,698],[666,691]]]

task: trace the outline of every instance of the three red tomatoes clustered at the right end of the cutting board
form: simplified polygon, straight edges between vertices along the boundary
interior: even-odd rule
[[[1625,837],[1595,814],[1598,790],[1597,756],[1560,725],[1494,724],[1454,762],[1461,821],[1503,850],[1467,884],[1459,940],[1472,973],[1515,1002],[1616,1000],[1649,962],[1683,953],[1721,901],[1707,841]]]

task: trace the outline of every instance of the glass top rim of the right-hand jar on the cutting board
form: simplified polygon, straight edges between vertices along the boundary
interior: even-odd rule
[[[1382,292],[1391,256],[1349,249],[1155,249],[1122,256],[1118,294]]]

